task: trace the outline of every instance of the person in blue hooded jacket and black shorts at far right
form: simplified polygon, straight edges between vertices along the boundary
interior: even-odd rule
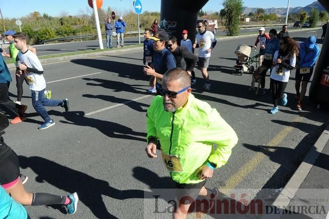
[[[316,37],[309,36],[306,42],[299,44],[299,62],[296,65],[296,97],[297,110],[302,110],[302,101],[306,94],[307,83],[310,81],[315,62],[320,55],[320,48],[316,45]],[[302,81],[302,90],[300,84]]]

